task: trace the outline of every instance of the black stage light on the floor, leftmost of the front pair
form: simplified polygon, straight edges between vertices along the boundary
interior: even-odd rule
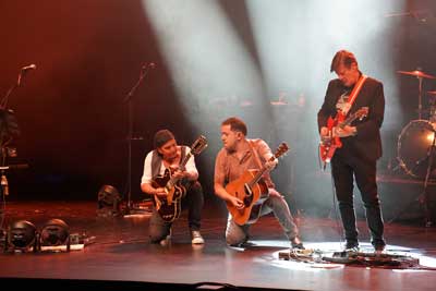
[[[36,251],[37,238],[36,227],[26,220],[19,220],[9,226],[7,233],[5,251]]]

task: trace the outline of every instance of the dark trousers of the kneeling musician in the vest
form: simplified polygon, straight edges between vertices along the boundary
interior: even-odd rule
[[[193,183],[182,198],[182,209],[187,209],[187,226],[191,231],[199,230],[204,205],[203,189],[199,182]],[[165,221],[156,208],[149,220],[148,233],[153,243],[158,243],[170,234],[172,222]]]

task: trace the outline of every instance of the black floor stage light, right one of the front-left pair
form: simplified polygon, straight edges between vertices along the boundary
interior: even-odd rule
[[[41,228],[39,233],[39,246],[41,251],[53,250],[59,247],[70,251],[70,228],[62,219],[50,219]],[[59,248],[59,250],[61,250]]]

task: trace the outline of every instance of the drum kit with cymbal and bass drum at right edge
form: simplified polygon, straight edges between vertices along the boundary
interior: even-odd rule
[[[436,92],[427,92],[431,96],[428,119],[423,119],[422,113],[422,81],[423,78],[436,80],[436,76],[428,75],[419,70],[415,71],[398,71],[403,75],[415,76],[419,80],[419,119],[412,120],[405,125],[398,137],[398,161],[399,166],[407,174],[424,179],[424,191],[417,198],[424,205],[426,226],[429,226],[429,207],[427,185],[431,175],[436,177]]]

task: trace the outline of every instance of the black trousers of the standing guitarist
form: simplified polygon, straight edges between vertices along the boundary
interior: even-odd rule
[[[358,243],[353,205],[353,181],[361,193],[373,245],[385,245],[384,222],[376,183],[376,161],[364,160],[338,150],[331,159],[331,173],[347,242]]]

